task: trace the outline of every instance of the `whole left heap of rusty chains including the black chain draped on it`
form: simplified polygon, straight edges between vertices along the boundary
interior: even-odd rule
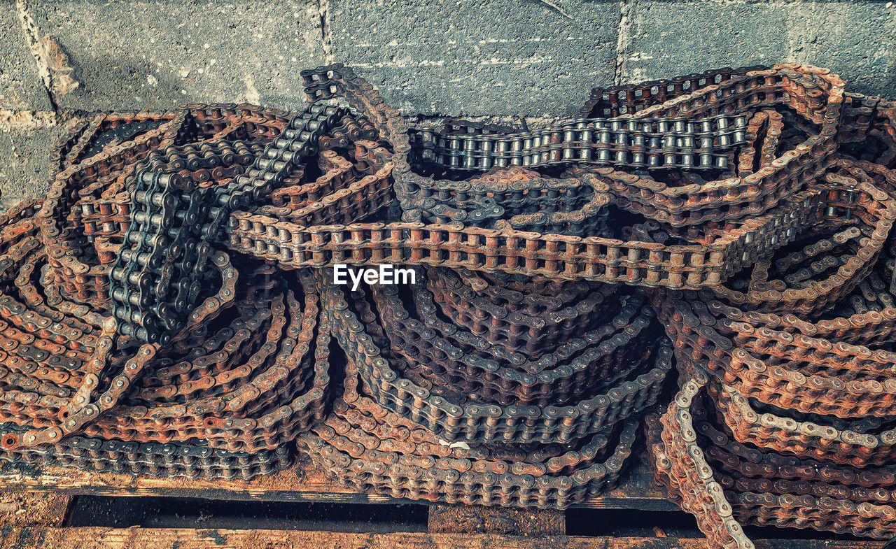
[[[353,202],[344,191],[378,185],[388,195],[389,168],[369,175],[382,167],[362,139],[375,130],[339,114],[188,106],[73,129],[47,200],[4,218],[0,458],[211,478],[291,463],[292,441],[327,403],[316,282],[212,244],[251,193],[293,219],[340,215],[322,194]],[[316,165],[290,162],[304,149],[282,136],[314,124],[314,149],[327,150]],[[147,312],[177,322],[152,332]]]

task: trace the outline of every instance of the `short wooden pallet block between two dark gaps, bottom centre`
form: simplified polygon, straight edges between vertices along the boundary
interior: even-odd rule
[[[566,534],[566,513],[562,510],[437,503],[429,507],[426,530],[430,534],[563,536]]]

